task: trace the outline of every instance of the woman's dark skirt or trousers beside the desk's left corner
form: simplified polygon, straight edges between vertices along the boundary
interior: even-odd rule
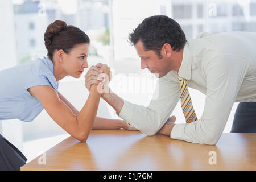
[[[18,171],[26,161],[22,152],[0,134],[0,170]]]

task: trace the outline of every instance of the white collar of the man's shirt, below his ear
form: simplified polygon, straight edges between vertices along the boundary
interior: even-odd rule
[[[189,47],[189,39],[188,39],[183,49],[183,59],[178,72],[181,78],[184,78],[186,80],[191,79],[191,64],[192,64],[192,56],[191,56],[191,49]]]

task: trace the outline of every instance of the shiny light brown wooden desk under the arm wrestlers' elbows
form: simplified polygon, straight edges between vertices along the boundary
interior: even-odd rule
[[[209,152],[217,164],[209,164]],[[139,131],[92,130],[86,143],[68,137],[21,170],[256,170],[256,133],[224,133],[216,146],[147,137]],[[42,158],[42,157],[41,157]]]

